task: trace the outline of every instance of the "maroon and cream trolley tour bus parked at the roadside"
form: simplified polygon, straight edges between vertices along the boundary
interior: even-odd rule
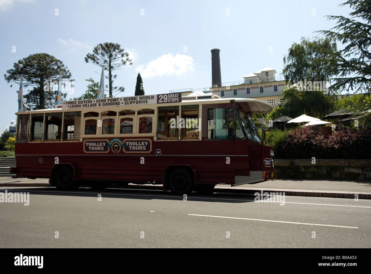
[[[273,149],[251,118],[270,111],[270,104],[255,99],[178,93],[17,112],[11,172],[49,178],[62,190],[151,182],[175,194],[277,179]]]

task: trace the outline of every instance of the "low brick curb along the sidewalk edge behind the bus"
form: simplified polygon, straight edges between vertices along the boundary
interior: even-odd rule
[[[49,183],[0,183],[0,186],[43,186],[50,187]],[[88,187],[88,186],[81,186]],[[116,187],[110,187],[116,188]],[[146,190],[162,190],[162,185],[128,185],[125,187],[117,187],[121,189],[146,189]],[[213,192],[216,193],[235,193],[235,194],[250,194],[255,195],[256,192],[268,193],[270,192],[284,192],[286,196],[304,196],[304,197],[323,197],[323,198],[345,198],[354,199],[355,194],[358,199],[371,200],[371,193],[368,192],[351,192],[351,191],[333,191],[333,190],[307,190],[307,189],[261,189],[257,187],[215,187]]]

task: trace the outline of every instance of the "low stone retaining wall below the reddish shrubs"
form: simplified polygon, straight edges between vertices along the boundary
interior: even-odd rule
[[[275,159],[278,178],[371,180],[371,160]]]

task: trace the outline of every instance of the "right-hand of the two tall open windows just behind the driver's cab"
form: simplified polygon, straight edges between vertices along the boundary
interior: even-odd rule
[[[181,139],[198,139],[198,105],[183,105],[181,107],[181,121],[184,126],[179,125]]]

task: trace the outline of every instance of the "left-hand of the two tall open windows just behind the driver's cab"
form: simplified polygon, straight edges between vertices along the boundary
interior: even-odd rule
[[[179,106],[158,107],[157,138],[178,139]]]

